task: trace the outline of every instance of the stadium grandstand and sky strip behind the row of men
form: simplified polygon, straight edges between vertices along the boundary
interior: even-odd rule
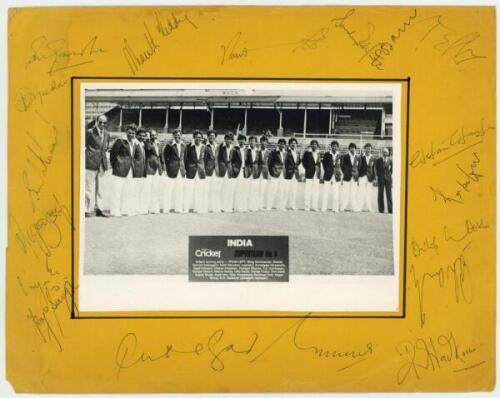
[[[332,94],[253,89],[92,89],[86,90],[85,118],[91,127],[99,114],[108,117],[112,136],[135,123],[158,132],[160,141],[173,131],[196,129],[247,135],[270,132],[295,137],[299,147],[313,138],[326,147],[335,139],[342,149],[392,147],[392,96],[387,92]],[[269,135],[269,133],[268,133]],[[276,139],[271,139],[274,143]]]

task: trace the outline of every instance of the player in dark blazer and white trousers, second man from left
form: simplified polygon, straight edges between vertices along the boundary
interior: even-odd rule
[[[133,169],[134,141],[137,126],[130,124],[126,128],[126,138],[118,138],[111,148],[110,163],[113,170],[113,188],[110,198],[112,217],[133,214]]]

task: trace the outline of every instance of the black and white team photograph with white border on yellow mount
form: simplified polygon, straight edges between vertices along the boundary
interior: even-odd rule
[[[377,294],[397,303],[400,84],[102,82],[80,97],[81,304],[91,285],[131,280],[308,286],[338,295],[325,310],[391,281]]]

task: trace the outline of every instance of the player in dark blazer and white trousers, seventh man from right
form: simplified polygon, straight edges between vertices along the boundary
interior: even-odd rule
[[[276,203],[278,210],[285,210],[285,144],[284,138],[278,140],[278,147],[269,154],[269,190],[266,209],[271,210]]]

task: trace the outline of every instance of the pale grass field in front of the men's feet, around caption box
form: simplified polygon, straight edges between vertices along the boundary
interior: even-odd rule
[[[299,184],[299,206],[303,190]],[[291,274],[394,273],[390,214],[169,213],[86,218],[85,224],[85,274],[187,274],[190,235],[288,235]]]

